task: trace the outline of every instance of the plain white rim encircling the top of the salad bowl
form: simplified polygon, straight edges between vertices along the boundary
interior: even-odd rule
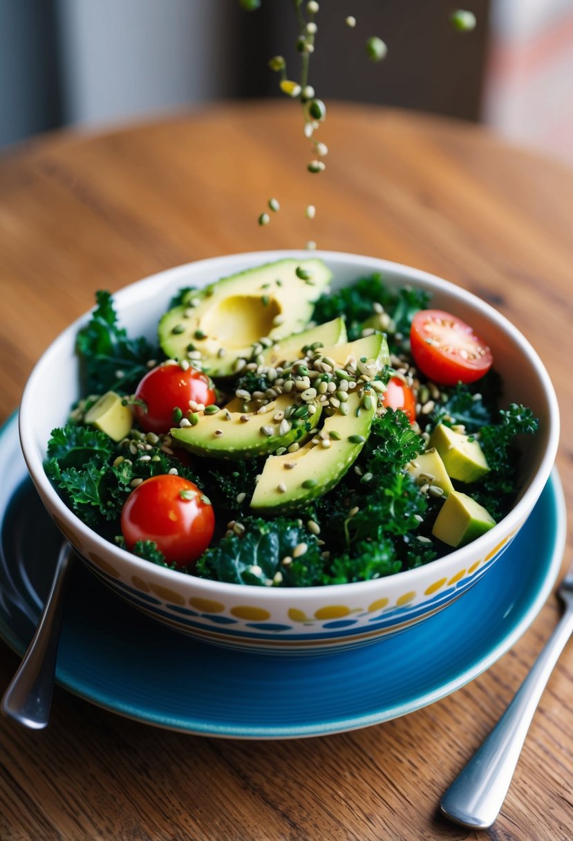
[[[469,292],[465,288],[460,287],[451,281],[445,280],[444,278],[439,278],[438,275],[426,272],[423,269],[407,266],[406,264],[399,262],[385,260],[381,257],[368,257],[365,255],[351,254],[350,252],[345,251],[274,249],[270,251],[242,251],[218,257],[206,257],[201,260],[170,267],[160,272],[155,272],[145,278],[140,278],[139,280],[118,289],[117,292],[113,293],[113,299],[117,304],[117,309],[121,311],[122,301],[124,299],[129,299],[129,297],[134,294],[135,288],[137,288],[140,293],[141,290],[144,292],[151,291],[155,286],[164,283],[168,279],[170,283],[176,283],[176,278],[181,276],[182,281],[189,272],[190,268],[192,268],[193,272],[200,272],[202,267],[208,266],[209,269],[213,271],[220,271],[220,273],[218,273],[218,277],[223,278],[226,276],[225,272],[229,272],[229,269],[231,272],[240,271],[243,266],[238,266],[238,263],[244,263],[246,267],[249,267],[249,265],[261,265],[264,262],[273,262],[287,257],[294,257],[295,259],[301,260],[313,258],[323,259],[327,262],[327,264],[329,262],[335,264],[334,271],[336,267],[351,267],[356,272],[365,271],[383,273],[386,271],[392,272],[397,276],[402,275],[407,283],[413,283],[420,288],[428,288],[432,291],[439,290],[444,292],[444,294],[448,294],[453,299],[459,299],[460,301],[465,302],[465,304],[469,304],[472,309],[476,309],[481,313],[481,315],[486,317],[487,320],[497,326],[498,330],[506,333],[511,338],[514,345],[518,346],[519,351],[529,358],[534,368],[536,368],[539,372],[539,379],[543,384],[544,397],[549,408],[549,429],[547,442],[537,473],[535,473],[533,479],[531,479],[528,484],[528,488],[523,493],[521,499],[518,500],[518,503],[514,505],[513,509],[509,511],[509,513],[503,517],[503,519],[499,521],[490,532],[486,532],[485,535],[482,535],[475,541],[466,544],[465,547],[454,549],[452,552],[442,556],[441,558],[436,558],[436,560],[431,563],[424,564],[423,566],[415,569],[403,570],[402,572],[390,576],[370,579],[368,581],[348,582],[346,584],[323,584],[313,585],[310,587],[260,587],[260,585],[257,584],[234,584],[230,582],[215,581],[213,579],[203,579],[192,574],[180,572],[176,569],[169,569],[154,564],[152,569],[155,576],[165,579],[168,582],[171,581],[171,584],[175,586],[176,583],[184,584],[187,587],[192,584],[193,586],[200,587],[204,590],[205,595],[219,595],[220,597],[223,597],[223,595],[234,597],[239,594],[249,594],[251,598],[255,596],[260,598],[260,596],[264,593],[265,600],[272,601],[284,599],[286,593],[292,594],[293,591],[297,593],[297,599],[313,599],[318,595],[323,596],[331,593],[335,593],[339,597],[344,595],[346,589],[349,587],[351,588],[350,591],[353,595],[361,595],[363,592],[371,590],[375,586],[380,587],[381,583],[386,583],[389,586],[392,586],[393,583],[399,581],[402,586],[402,583],[405,584],[407,582],[412,582],[420,575],[422,570],[428,569],[429,567],[436,571],[436,577],[438,578],[440,569],[455,565],[456,563],[460,566],[460,568],[463,566],[463,558],[468,551],[468,547],[472,547],[473,554],[479,554],[481,547],[486,546],[489,542],[491,542],[492,535],[495,534],[496,530],[498,533],[504,532],[508,535],[513,534],[513,532],[517,530],[518,526],[520,526],[526,519],[526,516],[528,516],[535,500],[539,498],[539,495],[544,489],[544,486],[549,479],[551,469],[555,463],[555,455],[559,445],[560,436],[559,405],[553,383],[551,383],[549,374],[544,367],[544,363],[541,361],[538,353],[534,350],[534,347],[529,343],[525,336],[518,331],[518,328],[515,327],[510,320],[499,313],[497,309],[492,307],[491,304],[487,304],[486,301],[478,298],[475,294]],[[218,267],[220,267],[220,269]],[[149,561],[146,561],[143,558],[138,558],[132,553],[129,553],[127,550],[114,545],[90,526],[87,526],[70,508],[68,508],[64,500],[62,500],[60,495],[57,494],[55,488],[50,482],[50,479],[48,479],[45,474],[43,457],[40,457],[39,451],[35,447],[35,443],[34,445],[31,444],[31,442],[35,442],[34,435],[31,431],[30,421],[33,416],[35,384],[41,377],[41,373],[45,366],[50,364],[51,357],[54,357],[57,354],[62,344],[69,341],[71,334],[75,335],[80,326],[86,323],[87,319],[92,314],[93,309],[94,308],[92,307],[92,309],[89,309],[87,312],[80,315],[63,331],[61,331],[58,336],[56,336],[56,338],[45,349],[45,352],[43,352],[39,357],[39,360],[35,363],[34,368],[29,374],[29,378],[24,386],[24,392],[22,394],[20,410],[18,413],[18,433],[20,437],[20,444],[30,476],[39,491],[40,497],[42,497],[43,500],[46,498],[50,502],[50,505],[58,512],[58,515],[61,516],[62,520],[66,524],[69,524],[74,531],[79,532],[82,537],[87,538],[87,540],[92,542],[95,540],[95,542],[101,543],[104,551],[106,553],[111,553],[113,558],[116,558],[123,564],[129,563],[134,574],[146,572],[149,577]]]

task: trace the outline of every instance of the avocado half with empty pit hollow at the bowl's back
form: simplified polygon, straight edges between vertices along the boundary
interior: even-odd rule
[[[310,277],[298,278],[297,268]],[[288,258],[193,290],[184,304],[161,318],[161,348],[167,357],[179,360],[201,352],[202,368],[210,376],[229,377],[238,359],[251,356],[256,341],[301,331],[331,278],[322,260]]]

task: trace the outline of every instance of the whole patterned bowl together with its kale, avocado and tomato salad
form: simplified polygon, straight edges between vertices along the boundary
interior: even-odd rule
[[[34,369],[20,433],[120,595],[208,641],[306,651],[403,630],[481,578],[559,415],[528,342],[465,290],[285,251],[98,293]]]

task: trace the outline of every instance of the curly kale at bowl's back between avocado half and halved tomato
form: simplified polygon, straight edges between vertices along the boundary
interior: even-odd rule
[[[314,305],[313,320],[323,324],[339,315],[344,316],[349,341],[353,341],[362,335],[365,320],[373,314],[373,304],[381,304],[394,322],[394,331],[409,336],[413,315],[418,309],[426,309],[428,301],[428,293],[423,289],[391,289],[380,274],[373,274],[338,292],[321,295]],[[392,351],[403,349],[402,342],[392,341],[392,336],[389,336],[389,344]]]

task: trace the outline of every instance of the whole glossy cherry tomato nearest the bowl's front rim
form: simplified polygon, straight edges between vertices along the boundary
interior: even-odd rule
[[[124,503],[121,531],[131,551],[138,540],[153,540],[167,563],[187,567],[213,537],[213,505],[196,484],[162,473],[135,488]]]

